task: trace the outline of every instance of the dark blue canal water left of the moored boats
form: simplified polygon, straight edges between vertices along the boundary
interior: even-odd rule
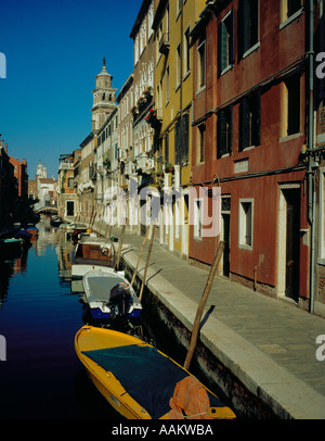
[[[49,218],[37,227],[28,250],[0,262],[0,419],[119,419],[75,353],[84,304],[72,291],[70,237]]]

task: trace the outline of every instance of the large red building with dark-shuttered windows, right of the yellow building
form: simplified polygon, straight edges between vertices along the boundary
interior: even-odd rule
[[[222,201],[220,235],[190,234],[191,259],[211,264],[221,239],[222,275],[306,308],[308,20],[300,0],[216,0],[192,30],[192,184]]]

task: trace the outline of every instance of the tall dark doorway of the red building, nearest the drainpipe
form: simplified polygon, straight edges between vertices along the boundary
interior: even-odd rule
[[[286,226],[286,297],[298,301],[300,265],[300,189],[285,190]]]

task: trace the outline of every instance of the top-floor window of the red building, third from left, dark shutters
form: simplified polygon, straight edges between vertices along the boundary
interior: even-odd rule
[[[258,41],[259,0],[242,0],[238,5],[238,60],[248,55]]]

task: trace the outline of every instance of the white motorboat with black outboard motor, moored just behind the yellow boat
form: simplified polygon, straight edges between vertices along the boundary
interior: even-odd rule
[[[93,320],[126,318],[136,322],[142,305],[128,280],[112,269],[90,270],[82,278],[83,291]]]

